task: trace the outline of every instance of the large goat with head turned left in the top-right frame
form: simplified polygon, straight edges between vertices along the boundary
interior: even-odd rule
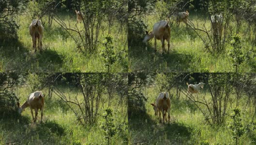
[[[155,23],[153,27],[153,32],[148,33],[148,31],[145,31],[146,35],[143,40],[144,43],[147,43],[154,37],[156,50],[157,50],[157,39],[160,40],[162,43],[162,54],[164,52],[164,40],[168,42],[168,53],[170,48],[171,27],[169,26],[168,23],[169,21],[165,21],[165,20]]]

